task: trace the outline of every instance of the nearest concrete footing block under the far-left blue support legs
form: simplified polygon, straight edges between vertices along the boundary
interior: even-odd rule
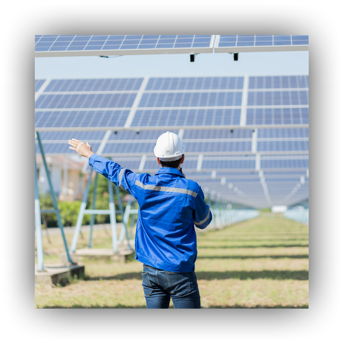
[[[74,275],[83,276],[84,266],[66,264],[44,264],[44,270],[38,271],[38,265],[34,269],[34,282],[43,284],[65,285]]]

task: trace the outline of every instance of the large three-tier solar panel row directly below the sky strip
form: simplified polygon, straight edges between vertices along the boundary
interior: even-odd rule
[[[308,125],[308,75],[53,79],[38,95],[41,129]]]

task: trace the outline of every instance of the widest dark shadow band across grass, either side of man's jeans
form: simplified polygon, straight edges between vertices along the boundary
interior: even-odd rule
[[[260,271],[196,271],[198,280],[253,280],[253,279],[272,279],[272,280],[308,280],[308,270],[260,270]],[[103,277],[87,277],[85,281],[100,281],[100,280],[142,280],[141,272],[122,273],[113,276]]]

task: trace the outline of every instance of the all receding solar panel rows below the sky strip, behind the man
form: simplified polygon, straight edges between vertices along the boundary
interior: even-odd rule
[[[35,80],[35,128],[47,154],[75,154],[67,142],[76,138],[150,174],[159,168],[156,140],[169,130],[186,146],[184,173],[205,193],[255,207],[292,204],[308,196],[308,82],[308,75]]]

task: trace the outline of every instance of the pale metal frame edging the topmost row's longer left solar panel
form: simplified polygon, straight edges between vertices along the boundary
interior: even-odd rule
[[[212,53],[215,35],[211,35],[209,47],[206,48],[168,48],[168,49],[121,49],[121,50],[70,50],[70,51],[35,51],[35,57],[63,56],[120,56],[120,55],[155,55],[175,53]]]

